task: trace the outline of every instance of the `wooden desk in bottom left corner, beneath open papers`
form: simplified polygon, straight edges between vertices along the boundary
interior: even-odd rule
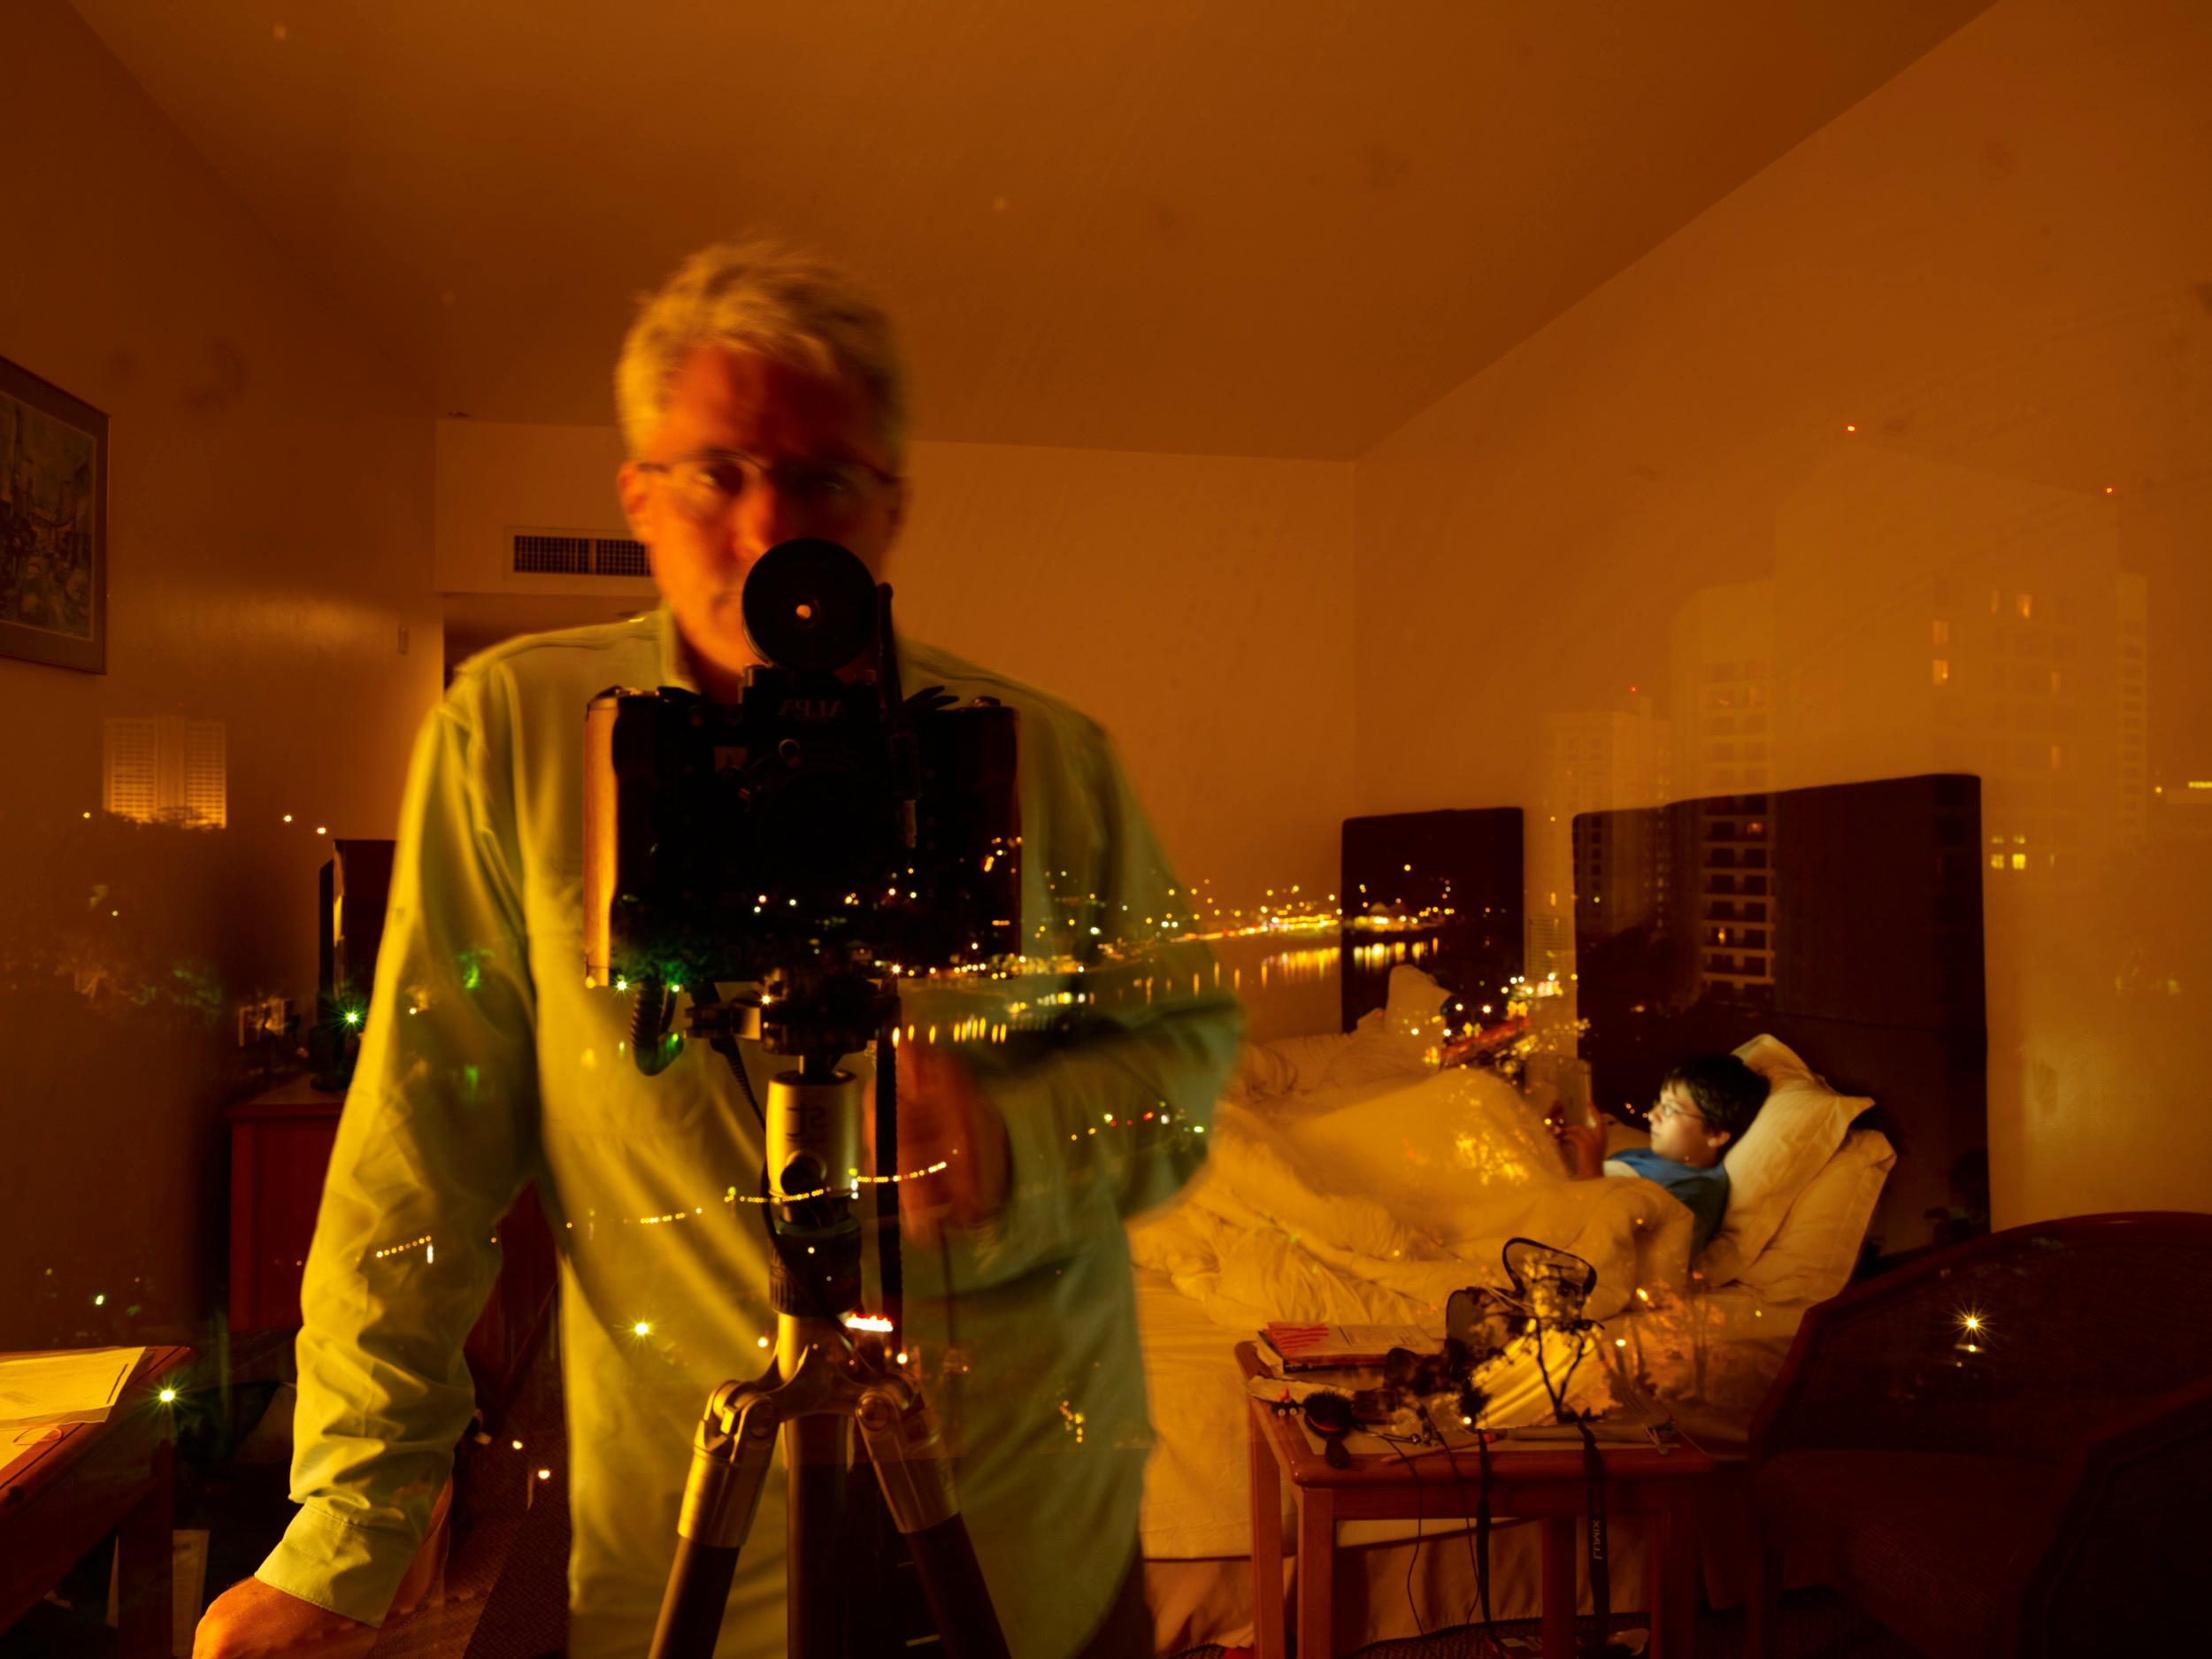
[[[0,1630],[115,1533],[115,1650],[168,1659],[175,1442],[155,1396],[190,1360],[188,1347],[148,1347],[106,1422],[64,1425],[0,1469]]]

